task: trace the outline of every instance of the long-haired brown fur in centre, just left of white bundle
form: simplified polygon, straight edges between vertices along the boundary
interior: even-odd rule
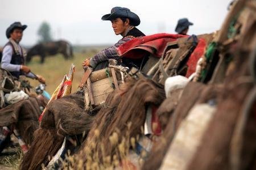
[[[152,82],[150,79],[131,80],[126,83],[121,92],[113,92],[106,100],[106,107],[102,108],[97,114],[84,147],[90,147],[92,142],[96,142],[96,155],[99,156],[100,162],[104,155],[113,156],[117,146],[110,146],[109,137],[118,131],[118,141],[120,142],[127,134],[127,124],[131,122],[129,136],[136,137],[141,134],[141,127],[146,118],[145,106],[148,103],[159,105],[164,99],[163,87]],[[94,134],[99,130],[100,139]],[[118,129],[118,130],[117,130]],[[102,154],[101,146],[104,148]],[[82,147],[81,147],[82,148]],[[77,160],[86,160],[85,150],[81,150]]]

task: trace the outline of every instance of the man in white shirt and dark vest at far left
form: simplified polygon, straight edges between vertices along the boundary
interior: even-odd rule
[[[39,82],[45,83],[43,76],[34,75],[30,73],[30,68],[24,65],[24,57],[26,52],[19,45],[22,40],[23,31],[27,28],[27,25],[22,25],[20,22],[11,24],[6,29],[6,37],[9,42],[3,47],[1,67],[19,79],[20,75],[26,75],[32,79],[37,78]]]

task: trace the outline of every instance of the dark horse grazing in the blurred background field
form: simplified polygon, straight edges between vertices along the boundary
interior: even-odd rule
[[[63,54],[65,59],[73,58],[72,46],[67,41],[51,41],[36,44],[28,49],[26,61],[30,62],[32,56],[39,55],[41,63],[44,63],[46,56],[55,55],[57,53]]]

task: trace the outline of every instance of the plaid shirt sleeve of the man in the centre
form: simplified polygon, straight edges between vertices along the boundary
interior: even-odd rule
[[[101,50],[99,53],[97,53],[94,57],[90,59],[90,66],[95,68],[98,63],[107,61],[108,59],[117,59],[119,58],[117,53],[118,46],[124,44],[127,41],[130,41],[133,39],[132,37],[125,37],[117,42],[114,46],[110,46],[109,48],[106,48],[104,50]]]

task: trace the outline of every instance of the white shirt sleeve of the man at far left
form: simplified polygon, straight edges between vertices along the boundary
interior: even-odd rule
[[[13,48],[10,45],[6,45],[3,48],[1,67],[8,71],[19,71],[20,65],[11,64],[11,56],[13,56]]]

